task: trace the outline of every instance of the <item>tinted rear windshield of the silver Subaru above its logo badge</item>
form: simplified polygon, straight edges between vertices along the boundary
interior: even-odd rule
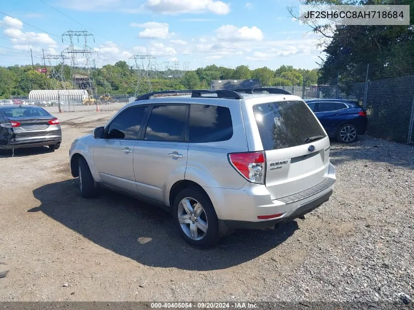
[[[257,104],[253,112],[265,151],[302,145],[307,138],[326,136],[302,101]]]

